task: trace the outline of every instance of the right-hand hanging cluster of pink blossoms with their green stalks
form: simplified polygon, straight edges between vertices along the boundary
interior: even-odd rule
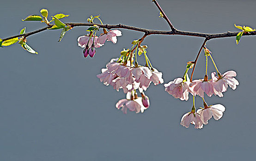
[[[203,48],[206,57],[206,74],[203,79],[189,81],[187,73],[189,69],[194,66],[194,62],[188,62],[187,69],[183,75],[183,78],[176,78],[174,81],[170,81],[164,85],[165,91],[171,94],[174,98],[187,101],[189,99],[189,93],[193,96],[194,99],[191,112],[183,115],[181,119],[181,125],[187,128],[189,127],[190,123],[194,124],[195,128],[202,128],[203,125],[208,124],[208,120],[211,119],[212,116],[215,120],[219,120],[222,117],[223,112],[225,111],[225,107],[221,104],[208,106],[205,102],[204,94],[206,94],[208,97],[213,95],[223,97],[222,92],[226,92],[228,86],[235,90],[239,85],[239,82],[234,78],[237,76],[237,73],[231,70],[221,75],[213,61],[213,57],[211,55],[212,53],[205,46]],[[216,73],[212,72],[212,79],[210,80],[208,80],[207,76],[207,57],[211,57],[218,75],[215,76]],[[202,98],[204,108],[198,109],[195,112],[195,96],[197,95]]]

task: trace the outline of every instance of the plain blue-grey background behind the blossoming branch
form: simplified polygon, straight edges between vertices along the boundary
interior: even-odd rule
[[[238,31],[234,23],[256,28],[254,0],[159,0],[177,29],[221,33]],[[43,23],[22,22],[47,8],[49,16],[70,14],[63,22],[85,22],[101,15],[104,23],[169,30],[151,0],[9,0],[1,3],[0,37],[32,31]],[[115,108],[123,92],[104,86],[96,77],[122,48],[143,34],[122,29],[117,44],[105,43],[95,57],[84,58],[77,38],[86,27],[70,30],[58,43],[60,30],[28,37],[39,55],[18,44],[0,49],[0,160],[1,161],[239,161],[255,158],[256,37],[210,40],[207,47],[220,72],[235,70],[240,85],[224,98],[206,98],[223,104],[223,118],[211,119],[203,129],[182,127],[180,119],[192,106],[151,85],[146,91],[150,108],[143,114],[122,114]],[[152,64],[165,83],[183,75],[203,42],[188,36],[151,35],[147,44]],[[140,60],[144,64],[143,59]],[[194,78],[205,71],[203,55]],[[209,63],[209,74],[214,71]],[[196,97],[196,107],[202,106]]]

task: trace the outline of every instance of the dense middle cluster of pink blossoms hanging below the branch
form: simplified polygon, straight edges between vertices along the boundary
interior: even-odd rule
[[[143,91],[146,91],[151,82],[154,85],[164,83],[162,73],[157,69],[145,66],[135,67],[130,61],[125,63],[118,61],[118,58],[111,59],[106,69],[102,69],[102,74],[97,77],[104,85],[111,85],[116,91],[122,89],[124,93],[127,93],[129,97],[121,99],[116,104],[117,109],[122,107],[123,113],[126,113],[127,109],[136,113],[143,112],[149,107],[149,98]],[[140,92],[141,97],[137,96],[136,90]]]

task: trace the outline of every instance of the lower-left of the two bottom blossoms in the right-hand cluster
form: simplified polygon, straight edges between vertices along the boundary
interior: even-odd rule
[[[201,121],[200,115],[197,113],[188,112],[182,116],[181,125],[183,127],[189,128],[189,124],[194,124],[196,129],[201,129],[203,127],[203,122]]]

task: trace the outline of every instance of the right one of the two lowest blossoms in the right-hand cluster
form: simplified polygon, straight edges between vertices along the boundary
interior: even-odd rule
[[[222,104],[214,104],[207,108],[198,109],[196,112],[200,115],[203,124],[206,125],[212,117],[215,120],[219,120],[223,116],[224,111],[225,107]]]

